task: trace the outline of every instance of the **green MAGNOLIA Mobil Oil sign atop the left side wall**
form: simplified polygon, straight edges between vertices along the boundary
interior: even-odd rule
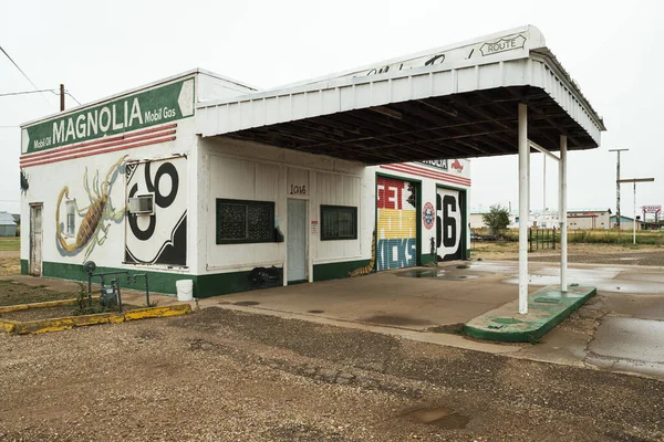
[[[141,129],[194,115],[194,78],[180,80],[28,126],[22,152]]]

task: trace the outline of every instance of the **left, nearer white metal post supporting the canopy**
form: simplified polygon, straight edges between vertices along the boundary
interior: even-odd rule
[[[528,313],[528,222],[530,218],[528,106],[519,103],[519,313]]]

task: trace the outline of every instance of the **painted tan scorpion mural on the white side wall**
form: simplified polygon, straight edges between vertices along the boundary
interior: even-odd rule
[[[92,180],[92,191],[87,183],[87,168],[85,168],[85,173],[83,176],[83,188],[90,198],[90,206],[79,209],[74,200],[74,209],[79,215],[83,218],[83,220],[81,220],[81,225],[79,227],[79,232],[76,233],[76,240],[71,244],[66,242],[66,239],[62,232],[62,225],[60,224],[60,206],[63,198],[69,199],[69,187],[65,186],[60,191],[58,203],[55,206],[55,234],[58,245],[61,249],[62,254],[68,253],[70,255],[75,255],[80,253],[81,249],[87,245],[83,262],[87,261],[87,256],[90,256],[94,250],[94,246],[96,244],[102,245],[104,241],[106,241],[106,235],[108,234],[108,228],[111,227],[111,223],[104,225],[104,222],[112,221],[117,223],[124,218],[125,208],[123,207],[117,211],[113,209],[110,192],[113,182],[115,182],[117,176],[123,169],[122,166],[126,157],[126,155],[121,157],[113,166],[111,166],[108,172],[106,173],[106,178],[101,182],[101,185],[100,172],[97,170]],[[100,238],[100,233],[102,232],[103,236]]]

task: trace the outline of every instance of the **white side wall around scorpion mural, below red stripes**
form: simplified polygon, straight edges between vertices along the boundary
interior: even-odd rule
[[[174,78],[169,78],[173,81]],[[160,83],[151,85],[152,87],[160,86]],[[197,90],[195,87],[195,90]],[[132,92],[135,93],[135,90]],[[121,94],[110,97],[106,102],[116,101],[127,94]],[[106,102],[98,102],[103,104]],[[96,105],[96,104],[95,104]],[[79,108],[73,109],[73,112]],[[62,115],[66,115],[62,114]],[[58,198],[63,189],[69,188],[69,198],[75,199],[79,209],[87,208],[92,202],[98,200],[102,193],[102,182],[106,181],[106,176],[111,171],[111,179],[107,188],[107,196],[112,202],[116,213],[123,212],[126,207],[126,176],[124,175],[124,165],[131,161],[141,161],[147,159],[164,159],[172,158],[174,155],[184,155],[187,157],[187,172],[185,173],[185,182],[183,189],[186,189],[186,194],[183,198],[186,201],[197,200],[196,177],[197,177],[197,156],[196,156],[196,136],[194,135],[195,120],[194,117],[183,118],[169,124],[176,124],[175,140],[163,141],[154,145],[145,145],[132,147],[110,152],[98,152],[96,155],[83,156],[79,158],[64,159],[56,162],[50,162],[38,166],[27,167],[25,173],[29,177],[30,188],[21,196],[21,217],[25,220],[23,234],[21,235],[21,259],[30,259],[30,204],[43,203],[43,245],[42,260],[44,262],[56,262],[82,265],[84,261],[92,260],[100,266],[132,269],[132,270],[152,270],[152,271],[169,271],[176,273],[189,273],[190,269],[196,269],[197,256],[193,253],[193,249],[188,248],[187,265],[185,267],[168,266],[168,265],[151,265],[151,264],[123,264],[125,257],[125,234],[126,219],[120,217],[115,222],[108,215],[111,210],[105,211],[101,222],[107,227],[107,234],[97,230],[92,235],[90,243],[75,250],[74,252],[65,252],[58,245],[58,231],[55,214],[60,212],[60,223],[66,227],[65,199],[63,198],[60,207]],[[156,128],[157,126],[153,126]],[[138,129],[142,130],[142,129]],[[131,131],[128,131],[131,133]],[[125,133],[125,134],[128,134]],[[103,141],[103,138],[94,139],[90,143]],[[22,143],[23,144],[23,143]],[[117,146],[115,146],[117,147]],[[114,165],[121,161],[120,168]],[[113,170],[111,170],[113,169]],[[113,175],[113,172],[115,172]],[[154,176],[153,171],[153,176]],[[166,182],[167,180],[164,180]],[[85,189],[90,188],[90,191]],[[98,190],[95,190],[98,189]],[[179,198],[179,197],[178,197]],[[81,230],[83,218],[75,217],[75,231]],[[195,243],[197,240],[197,213],[195,210],[187,211],[187,242]],[[104,236],[106,236],[104,239]],[[97,241],[102,241],[100,244]],[[75,238],[65,238],[68,244],[76,242]],[[87,249],[91,252],[86,256]]]

